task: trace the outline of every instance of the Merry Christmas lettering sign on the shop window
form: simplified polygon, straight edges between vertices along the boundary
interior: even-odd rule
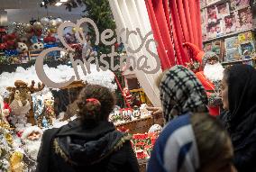
[[[79,28],[80,25],[83,23],[88,23],[91,24],[96,32],[96,42],[95,45],[98,45],[100,41],[105,44],[106,46],[112,46],[112,51],[109,54],[101,54],[99,57],[88,57],[88,50],[91,49],[91,43],[90,41],[86,40],[84,32],[82,32]],[[74,53],[75,50],[65,41],[63,37],[63,32],[66,27],[73,27],[76,28],[76,37],[78,41],[84,45],[83,50],[82,50],[82,60],[81,59],[74,59]],[[98,28],[96,26],[96,23],[89,19],[89,18],[82,18],[78,20],[78,23],[71,23],[71,22],[66,22],[62,23],[59,28],[58,28],[58,35],[59,35],[59,41],[64,45],[66,48],[59,48],[59,47],[53,47],[49,48],[46,50],[43,50],[39,57],[36,59],[35,63],[35,69],[37,76],[40,78],[41,82],[44,83],[46,86],[52,87],[52,88],[61,88],[65,86],[69,86],[73,81],[80,80],[80,76],[78,74],[78,66],[80,66],[83,70],[83,74],[87,75],[91,73],[90,70],[90,64],[92,61],[95,61],[96,63],[96,68],[99,71],[102,69],[103,71],[106,71],[107,69],[112,69],[112,70],[119,70],[123,68],[124,62],[128,62],[128,66],[132,66],[134,70],[142,70],[143,72],[147,74],[154,74],[157,73],[160,70],[160,59],[158,57],[158,54],[152,52],[150,50],[150,45],[151,43],[156,42],[150,38],[152,32],[148,32],[146,35],[142,35],[142,32],[140,31],[139,28],[137,28],[135,31],[129,31],[129,29],[121,29],[120,31],[115,30],[115,33],[117,35],[117,38],[114,37],[114,31],[110,29],[106,29],[104,32],[99,32]],[[141,44],[139,47],[137,47],[135,50],[129,47],[128,41],[131,39],[131,35],[139,37],[141,40]],[[121,42],[121,37],[124,38],[123,44],[129,54],[129,56],[121,56],[120,57],[120,64],[114,66],[114,58],[118,56],[117,52],[114,51],[114,43],[118,41],[119,43]],[[111,39],[111,41],[108,41]],[[151,57],[146,57],[145,55],[142,55],[139,58],[133,57],[133,54],[140,52],[140,50],[145,49],[149,52]],[[66,82],[55,82],[51,80],[45,73],[44,68],[43,68],[43,59],[46,57],[46,55],[52,51],[64,51],[66,53],[69,53],[70,61],[72,63],[72,67],[74,69],[75,75],[69,78],[69,81]],[[69,52],[68,52],[69,51]],[[107,62],[105,59],[111,59],[110,64]],[[148,64],[148,58],[152,58],[155,60],[155,67],[152,68],[151,65]],[[105,66],[101,66],[101,64],[104,64]],[[133,65],[132,65],[133,64]]]

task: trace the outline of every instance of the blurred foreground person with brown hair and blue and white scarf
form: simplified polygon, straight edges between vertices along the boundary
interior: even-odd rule
[[[170,121],[151,152],[148,172],[234,172],[228,133],[207,113]]]

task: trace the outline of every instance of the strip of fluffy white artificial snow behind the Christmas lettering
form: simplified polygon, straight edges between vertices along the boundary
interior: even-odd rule
[[[76,76],[74,69],[67,65],[59,65],[57,68],[49,68],[47,65],[44,65],[43,68],[46,75],[52,81],[58,83],[68,81],[70,77]],[[89,84],[106,86],[112,91],[114,91],[117,88],[114,82],[114,73],[112,71],[100,70],[98,72],[96,70],[96,65],[94,64],[90,65],[90,70],[90,74],[84,75],[82,68],[78,66],[78,74],[82,81],[87,81],[87,83]],[[32,80],[34,80],[35,83],[41,82],[41,80],[37,77],[35,66],[32,66],[27,69],[18,67],[16,68],[16,71],[13,73],[4,72],[0,75],[0,94],[2,95],[3,93],[5,93],[5,88],[7,86],[14,86],[14,82],[16,80],[23,80],[28,85],[31,85]],[[48,90],[44,91],[47,92]]]

